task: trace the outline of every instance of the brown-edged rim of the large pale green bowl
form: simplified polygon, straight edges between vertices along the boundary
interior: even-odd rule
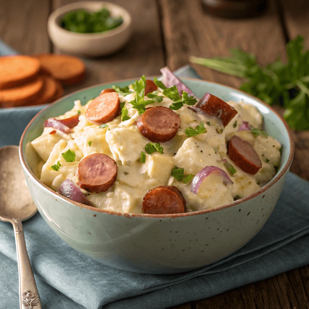
[[[153,75],[153,76],[148,76],[147,78],[154,78],[154,77],[159,77],[159,75]],[[231,203],[219,206],[219,207],[214,207],[214,208],[210,208],[210,209],[205,209],[205,210],[197,210],[197,211],[192,211],[192,212],[188,212],[188,213],[181,213],[181,214],[131,214],[131,213],[121,213],[121,212],[116,212],[116,211],[111,211],[111,210],[104,210],[104,209],[100,209],[100,208],[96,208],[94,206],[88,206],[82,203],[78,203],[75,201],[70,200],[67,197],[63,197],[62,195],[60,195],[59,193],[53,191],[51,188],[47,187],[45,184],[43,184],[42,182],[40,182],[39,179],[36,178],[36,176],[32,173],[32,171],[28,168],[27,164],[26,164],[26,160],[24,159],[24,154],[23,154],[23,139],[28,131],[28,128],[30,127],[30,125],[32,124],[32,122],[38,117],[40,116],[41,113],[43,113],[45,110],[47,110],[48,108],[50,108],[52,105],[57,104],[58,102],[60,102],[61,100],[77,94],[80,91],[84,91],[84,90],[88,90],[91,88],[95,88],[95,87],[100,87],[100,86],[105,86],[105,85],[109,85],[111,83],[121,83],[121,82],[126,82],[126,81],[131,81],[134,78],[127,78],[127,79],[121,79],[121,80],[116,80],[116,81],[112,81],[112,82],[108,82],[108,83],[102,83],[102,84],[97,84],[94,86],[90,86],[90,87],[85,87],[83,89],[80,89],[78,91],[74,91],[68,95],[63,96],[62,98],[56,100],[55,102],[53,102],[52,104],[49,104],[48,106],[46,106],[45,108],[43,108],[40,112],[38,112],[33,118],[32,120],[28,123],[28,125],[26,126],[26,128],[23,131],[23,134],[20,138],[20,142],[19,142],[19,158],[20,161],[23,165],[23,167],[26,169],[26,171],[28,172],[28,174],[31,176],[31,178],[41,187],[43,188],[45,191],[49,191],[54,197],[56,198],[60,198],[64,201],[67,201],[75,206],[78,207],[83,207],[89,210],[93,210],[95,212],[99,212],[99,213],[105,213],[105,214],[111,214],[111,215],[117,215],[117,216],[123,216],[123,217],[127,217],[127,218],[132,218],[132,217],[145,217],[145,218],[180,218],[180,217],[188,217],[188,216],[195,216],[195,215],[199,215],[199,214],[206,214],[206,213],[210,213],[210,212],[214,212],[214,211],[218,211],[218,210],[222,210],[222,209],[226,209],[235,205],[238,205],[244,201],[248,201],[251,200],[253,197],[256,197],[262,193],[264,193],[267,189],[269,189],[273,184],[275,184],[278,180],[280,180],[280,178],[286,173],[286,171],[288,170],[288,168],[290,167],[290,164],[292,163],[293,157],[294,157],[294,149],[295,149],[295,145],[294,145],[294,141],[291,137],[291,132],[290,132],[290,128],[288,126],[288,124],[286,123],[286,121],[279,115],[278,112],[276,112],[270,105],[266,104],[265,102],[263,102],[262,100],[260,100],[259,98],[256,98],[253,95],[250,95],[244,91],[241,91],[235,87],[231,87],[231,86],[226,86],[220,83],[216,83],[216,82],[211,82],[211,81],[207,81],[204,79],[199,79],[199,78],[188,78],[188,77],[180,77],[180,79],[188,79],[188,80],[193,80],[193,81],[197,81],[197,82],[201,82],[204,81],[206,83],[212,83],[212,84],[216,84],[219,86],[223,86],[223,87],[227,87],[230,88],[233,91],[238,91],[243,93],[244,95],[247,95],[249,97],[251,97],[252,99],[257,100],[258,102],[260,102],[261,104],[263,104],[266,108],[270,109],[273,113],[275,113],[279,119],[282,121],[282,123],[284,124],[284,126],[286,127],[287,133],[288,133],[288,137],[290,140],[290,153],[289,153],[289,157],[288,160],[285,164],[285,166],[283,167],[282,171],[273,179],[271,180],[269,183],[267,183],[265,186],[263,186],[262,188],[260,188],[259,190],[257,190],[256,192],[251,193],[250,195],[243,197],[239,200],[233,201]],[[138,78],[135,78],[136,80]]]

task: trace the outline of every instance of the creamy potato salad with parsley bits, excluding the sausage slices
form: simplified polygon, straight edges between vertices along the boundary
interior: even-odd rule
[[[149,190],[173,186],[184,198],[185,212],[191,212],[218,207],[245,197],[275,176],[280,165],[281,145],[262,131],[263,117],[254,106],[243,101],[227,102],[237,113],[224,126],[220,114],[212,116],[196,108],[198,100],[194,101],[193,96],[188,95],[187,99],[183,93],[179,96],[180,100],[176,96],[171,97],[171,91],[167,91],[170,88],[156,81],[156,90],[145,96],[146,92],[141,91],[142,97],[138,97],[138,87],[134,85],[126,89],[110,89],[121,105],[120,115],[118,111],[111,121],[93,121],[91,117],[97,115],[93,111],[90,115],[89,108],[93,108],[91,103],[95,100],[84,106],[76,100],[70,111],[53,118],[53,121],[62,121],[75,117],[76,125],[72,127],[72,124],[64,122],[69,130],[53,123],[45,126],[43,133],[31,142],[41,159],[35,172],[43,184],[59,192],[61,184],[68,179],[81,190],[92,206],[121,213],[143,213],[143,199]],[[110,93],[100,96],[107,97]],[[114,99],[111,96],[108,98]],[[149,100],[151,103],[147,104]],[[177,100],[180,103],[178,105]],[[144,105],[136,102],[143,102]],[[175,129],[177,121],[173,124],[175,136],[166,142],[151,141],[154,135],[147,135],[146,118],[143,120],[144,131],[138,126],[141,123],[139,119],[146,117],[151,110],[154,112],[155,107],[167,108],[180,118],[179,128],[176,126]],[[163,118],[165,115],[169,117],[165,109],[158,109],[158,112],[163,113]],[[163,125],[164,121],[158,123]],[[159,136],[161,133],[157,134]],[[248,142],[255,150],[258,156],[256,160],[261,162],[261,167],[256,163],[257,172],[244,171],[245,167],[242,169],[237,165],[242,163],[234,159],[236,164],[230,158],[227,145],[235,136]],[[91,192],[97,190],[92,187],[87,191],[85,188],[89,185],[81,185],[87,181],[80,175],[82,170],[79,164],[93,154],[107,155],[116,162],[116,174],[110,177],[114,177],[111,185],[108,187],[108,184],[107,188],[104,183],[105,187],[101,190],[107,189],[99,193]],[[91,162],[89,164],[93,164]],[[231,182],[225,182],[226,177],[220,173],[210,172],[207,177],[199,179],[199,187],[195,187],[194,192],[195,177],[205,167],[223,170]]]

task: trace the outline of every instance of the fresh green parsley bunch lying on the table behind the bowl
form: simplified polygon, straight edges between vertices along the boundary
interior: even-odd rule
[[[278,104],[286,110],[284,118],[296,130],[309,130],[309,50],[303,53],[302,36],[286,44],[287,63],[280,57],[265,67],[252,53],[231,49],[234,57],[205,59],[190,57],[190,61],[211,69],[246,79],[241,90],[269,105]]]

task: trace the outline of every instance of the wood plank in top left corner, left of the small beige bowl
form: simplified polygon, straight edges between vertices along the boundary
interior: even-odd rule
[[[0,38],[22,54],[49,53],[49,0],[0,1]]]

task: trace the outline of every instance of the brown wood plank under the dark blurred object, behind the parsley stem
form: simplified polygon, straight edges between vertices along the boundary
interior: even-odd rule
[[[163,24],[167,65],[172,70],[188,63],[190,55],[225,57],[228,50],[240,46],[255,53],[261,65],[285,59],[285,39],[273,1],[268,10],[253,19],[222,19],[206,14],[198,0],[158,0]],[[267,37],[271,34],[271,40]],[[193,65],[204,79],[239,87],[241,80]]]

